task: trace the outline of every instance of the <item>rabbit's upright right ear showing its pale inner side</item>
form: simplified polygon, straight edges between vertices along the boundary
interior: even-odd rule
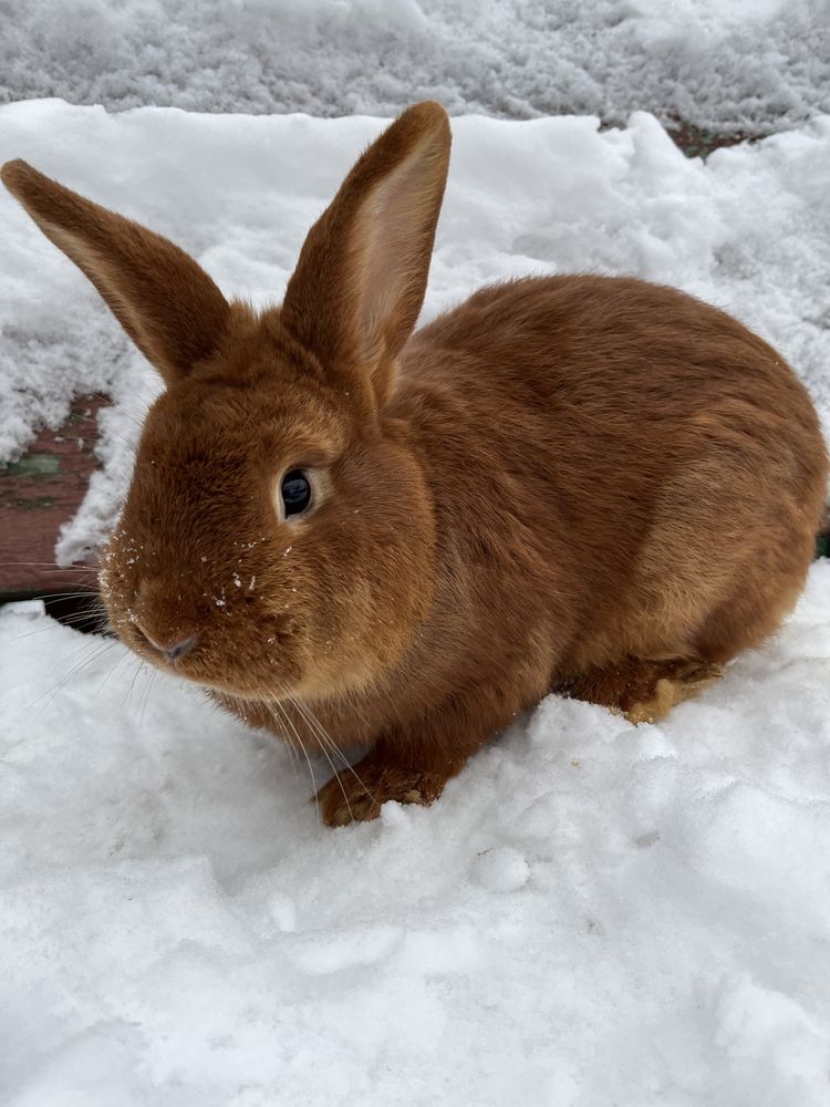
[[[449,143],[440,104],[411,107],[363,154],[309,231],[282,319],[326,369],[374,374],[409,337],[426,291]]]

